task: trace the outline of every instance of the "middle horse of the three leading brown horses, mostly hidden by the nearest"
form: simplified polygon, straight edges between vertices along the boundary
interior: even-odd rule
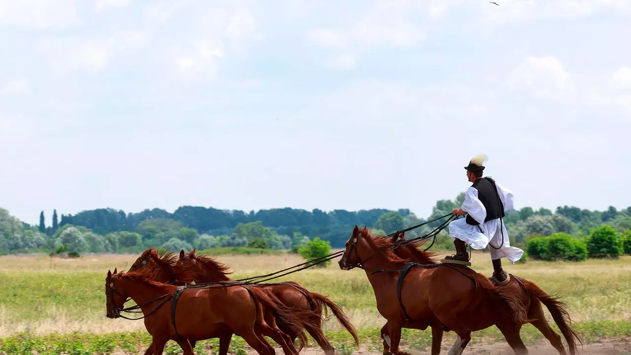
[[[178,264],[177,263],[178,256],[174,252],[170,253],[158,253],[158,250],[155,248],[147,249],[143,252],[141,256],[133,263],[131,268],[129,268],[129,272],[137,272],[143,268],[146,268],[151,272],[151,277],[153,281],[168,283],[175,286],[182,286],[185,284],[191,284],[192,282],[198,282],[195,279],[197,275],[197,271],[195,268],[192,268],[189,265]],[[182,271],[184,270],[184,272]],[[215,286],[213,286],[215,287]],[[241,286],[247,287],[247,286]],[[248,287],[249,288],[249,287]],[[270,296],[268,294],[268,296]],[[275,303],[280,303],[278,299],[276,299],[273,295],[269,297]],[[295,349],[293,346],[293,340],[288,337],[288,335],[281,332],[281,330],[276,325],[276,318],[274,318],[273,313],[265,307],[262,307],[264,310],[264,319],[261,318],[256,319],[255,330],[257,337],[261,339],[261,341],[268,346],[269,351],[274,354],[274,348],[267,342],[266,339],[262,337],[262,335],[266,335],[271,337],[274,341],[280,344],[283,347],[283,351],[287,355],[297,354],[299,351]],[[306,322],[309,319],[310,314],[305,313],[297,313],[297,320],[300,323]],[[281,319],[282,323],[282,319]],[[269,325],[269,327],[268,327]],[[283,324],[283,327],[292,329],[291,325]],[[271,328],[271,330],[269,329]],[[295,329],[294,329],[295,330]],[[233,331],[230,329],[226,329],[225,331],[218,334],[219,341],[219,349],[220,354],[225,355],[228,352],[228,346],[230,345],[230,339],[232,338]],[[307,341],[307,337],[304,332],[300,332],[300,346],[302,349],[302,344],[305,344]],[[196,340],[188,339],[191,342],[191,346],[195,347]],[[151,349],[151,346],[150,346]],[[150,351],[150,350],[148,350]],[[146,353],[146,355],[150,355],[151,352]]]

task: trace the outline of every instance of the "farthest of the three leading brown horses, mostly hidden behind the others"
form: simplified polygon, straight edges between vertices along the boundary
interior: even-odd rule
[[[184,250],[181,250],[180,262],[188,263],[198,269],[197,282],[231,280],[230,277],[228,277],[230,272],[228,272],[227,265],[217,262],[214,258],[209,256],[196,255],[196,250],[192,250],[189,253],[184,253]],[[308,322],[304,323],[304,329],[315,339],[327,355],[333,355],[335,353],[334,347],[329,340],[326,339],[322,331],[322,311],[325,312],[326,317],[327,308],[331,310],[333,315],[338,319],[338,322],[348,330],[353,336],[353,339],[355,339],[355,344],[359,346],[357,332],[350,320],[345,315],[344,311],[326,296],[310,292],[295,281],[284,281],[277,284],[259,284],[256,286],[269,290],[281,303],[285,304],[288,308],[292,308],[292,310],[313,311],[315,314],[309,318]],[[295,340],[298,335],[290,334],[289,331],[286,333],[292,340]]]

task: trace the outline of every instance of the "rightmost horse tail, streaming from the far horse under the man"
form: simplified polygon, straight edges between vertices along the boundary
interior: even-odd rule
[[[550,311],[550,315],[552,315],[552,319],[555,323],[557,323],[557,327],[563,334],[565,338],[565,342],[567,342],[567,347],[570,352],[570,355],[576,354],[576,341],[578,340],[583,344],[581,340],[581,336],[570,327],[570,323],[572,320],[570,319],[570,313],[565,308],[565,304],[560,301],[560,296],[550,296],[546,294],[539,286],[536,286],[533,282],[521,279],[524,284],[524,288],[528,292],[531,298],[536,298],[541,301],[541,303],[545,304],[548,311]]]

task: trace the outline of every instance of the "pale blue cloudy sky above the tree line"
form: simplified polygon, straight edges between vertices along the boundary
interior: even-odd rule
[[[0,207],[631,205],[631,1],[0,0]]]

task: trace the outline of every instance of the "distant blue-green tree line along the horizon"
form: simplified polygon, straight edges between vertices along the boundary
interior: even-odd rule
[[[170,250],[205,250],[221,247],[268,248],[297,252],[307,241],[319,238],[333,248],[342,248],[355,226],[369,226],[383,234],[391,233],[449,214],[461,206],[464,193],[454,200],[439,200],[427,219],[408,209],[324,212],[296,208],[273,208],[257,212],[220,210],[212,207],[182,206],[169,213],[160,208],[126,213],[112,208],[85,210],[78,214],[57,211],[48,224],[44,212],[40,223],[30,226],[0,208],[0,253],[33,250],[53,253],[136,253],[161,246]],[[442,220],[408,232],[409,238],[423,235]],[[586,238],[594,229],[610,226],[616,233],[631,230],[631,207],[604,211],[563,206],[556,210],[524,207],[508,211],[504,223],[512,244],[526,249],[526,240],[563,233]],[[442,232],[438,248],[451,250],[451,239]]]

